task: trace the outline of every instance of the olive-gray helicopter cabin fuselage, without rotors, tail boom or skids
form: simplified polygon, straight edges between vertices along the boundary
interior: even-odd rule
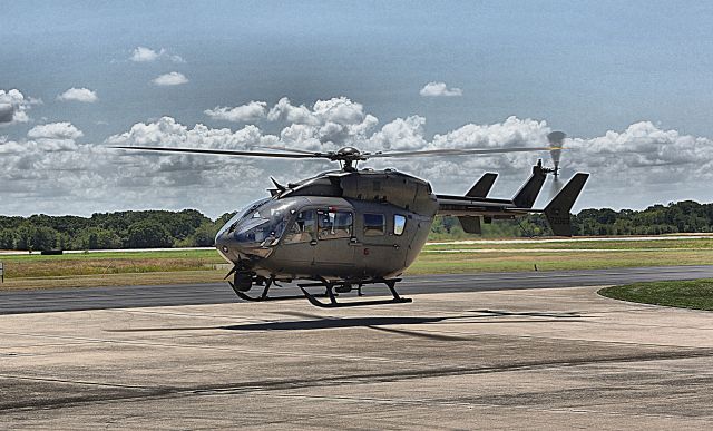
[[[237,271],[273,280],[393,277],[413,263],[438,212],[427,182],[389,169],[279,187],[216,236]]]

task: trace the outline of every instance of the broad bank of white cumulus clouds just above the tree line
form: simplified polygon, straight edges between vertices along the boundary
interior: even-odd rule
[[[265,115],[267,105],[255,104]],[[234,108],[225,109],[228,112]],[[221,108],[214,110],[219,112]],[[311,106],[295,106],[284,98],[266,116],[274,121],[274,134],[254,125],[211,128],[163,117],[135,124],[102,144],[77,143],[81,130],[70,123],[36,126],[26,139],[0,137],[3,212],[91,214],[137,207],[196,207],[216,216],[264,196],[268,175],[286,183],[334,167],[328,161],[121,151],[109,145],[227,149],[284,146],[310,150],[354,145],[364,150],[394,151],[545,146],[551,131],[546,121],[509,117],[430,137],[424,131],[424,117],[395,118],[377,127],[374,116],[345,97],[318,100]],[[563,155],[563,179],[575,170],[592,173],[579,208],[646,206],[696,197],[710,200],[711,138],[641,121],[598,137],[567,139],[565,147],[572,149]],[[428,179],[443,194],[465,193],[484,172],[499,172],[494,196],[508,197],[529,176],[538,158],[550,164],[547,151],[540,151],[372,159],[360,166],[395,167]],[[548,188],[543,192],[544,200]]]

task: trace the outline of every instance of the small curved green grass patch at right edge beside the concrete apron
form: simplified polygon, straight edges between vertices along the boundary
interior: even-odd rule
[[[606,287],[599,294],[643,304],[713,311],[713,280],[634,283]]]

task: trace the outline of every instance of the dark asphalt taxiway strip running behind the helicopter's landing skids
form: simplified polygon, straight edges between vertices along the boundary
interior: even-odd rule
[[[590,271],[447,274],[406,277],[398,284],[404,295],[423,293],[482,292],[538,287],[615,285],[647,281],[713,277],[713,265],[657,266]],[[260,291],[260,287],[255,287]],[[384,294],[382,285],[364,292]],[[260,293],[260,292],[258,292]],[[295,286],[273,288],[274,296],[296,295]],[[0,314],[79,310],[227,304],[237,302],[227,283],[94,288],[55,288],[0,292]]]

